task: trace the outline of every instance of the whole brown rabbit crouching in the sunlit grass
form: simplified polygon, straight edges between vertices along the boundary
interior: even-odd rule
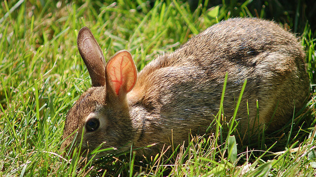
[[[223,113],[228,120],[247,80],[237,110],[240,134],[280,129],[309,97],[303,47],[272,21],[222,21],[173,53],[153,59],[139,73],[126,50],[106,63],[86,27],[77,43],[92,87],[67,114],[62,150],[75,139],[73,132],[78,132],[77,146],[83,136],[81,152],[103,143],[102,148],[114,148],[105,154],[117,153],[133,144],[140,148],[138,155],[155,155],[165,144],[187,142],[189,133],[205,134],[219,112],[226,73]],[[148,145],[154,146],[141,148]]]

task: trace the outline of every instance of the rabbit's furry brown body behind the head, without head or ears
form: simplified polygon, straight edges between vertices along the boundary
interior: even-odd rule
[[[169,131],[158,130],[173,129],[179,139],[186,138],[184,129],[202,132],[218,113],[227,72],[224,114],[228,119],[233,115],[247,79],[237,116],[241,132],[251,129],[248,117],[250,125],[258,118],[256,100],[259,123],[256,121],[255,129],[271,122],[269,129],[273,130],[288,121],[294,105],[300,109],[309,94],[304,58],[296,37],[275,23],[256,18],[229,19],[145,66],[129,94],[130,105],[156,115],[148,117],[152,120],[144,125],[157,134],[151,136],[153,142],[161,137],[168,140],[165,133]],[[147,118],[139,118],[142,116]]]

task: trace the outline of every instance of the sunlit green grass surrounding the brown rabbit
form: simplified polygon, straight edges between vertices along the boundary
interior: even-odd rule
[[[316,33],[308,22],[298,36],[306,48],[312,96],[293,123],[255,145],[236,146],[235,137],[218,134],[226,126],[214,121],[217,133],[188,137],[188,147],[165,147],[174,150],[168,156],[135,159],[131,153],[91,163],[75,154],[69,163],[58,155],[67,111],[90,87],[76,44],[81,27],[92,30],[106,59],[126,49],[141,70],[158,54],[174,51],[218,21],[256,16],[247,8],[250,1],[209,9],[201,5],[194,12],[176,0],[152,5],[145,0],[1,1],[0,177],[315,176]],[[264,10],[260,17],[265,17]],[[235,125],[226,128],[233,131]]]

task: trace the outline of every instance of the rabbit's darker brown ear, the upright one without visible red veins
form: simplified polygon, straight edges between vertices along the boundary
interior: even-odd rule
[[[80,29],[77,45],[92,81],[92,87],[105,85],[105,59],[98,42],[87,27]]]

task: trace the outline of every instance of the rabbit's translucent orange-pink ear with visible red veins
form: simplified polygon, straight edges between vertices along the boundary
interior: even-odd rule
[[[137,70],[131,54],[118,51],[106,65],[107,95],[125,96],[137,81]]]

